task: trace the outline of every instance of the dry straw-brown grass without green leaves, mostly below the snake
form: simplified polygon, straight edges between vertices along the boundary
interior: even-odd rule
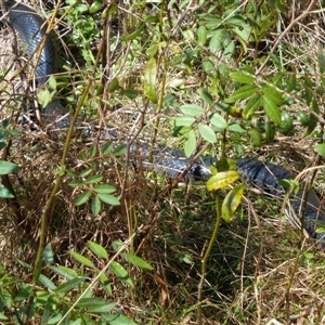
[[[294,38],[288,36],[283,46],[288,51],[286,55],[292,57],[290,64],[301,72],[308,66],[309,73],[317,78],[315,53],[323,47],[324,35],[318,26],[320,34],[314,38],[310,28],[310,25],[300,25],[300,36],[295,38],[295,44]],[[303,55],[294,52],[296,42]],[[8,66],[8,40],[1,38],[0,63],[4,66]],[[123,57],[128,54],[127,49],[120,53]],[[130,81],[129,76],[141,69],[141,62],[135,67],[126,63],[119,77]],[[5,91],[11,92],[15,82],[9,83]],[[179,92],[180,102],[186,102],[194,93],[193,86],[184,88]],[[8,98],[8,94],[1,93],[1,96]],[[127,130],[131,138],[139,130],[141,138],[150,138],[160,115],[142,100],[135,104],[125,98],[114,100],[121,108],[103,110],[100,120],[109,121],[117,129],[125,130],[123,133]],[[91,106],[99,105],[96,101],[94,98]],[[142,122],[144,115],[145,123]],[[173,145],[176,140],[165,138],[169,133],[165,132],[168,126],[164,119],[162,125],[161,142]],[[12,183],[20,197],[24,220],[17,222],[9,205],[1,203],[0,258],[6,269],[12,270],[12,276],[29,282],[31,274],[26,274],[17,259],[34,263],[40,216],[55,180],[64,139],[53,140],[46,132],[21,131],[22,136],[14,141],[10,160],[21,166],[20,172],[12,177]],[[248,152],[246,148],[245,156],[257,156],[299,171],[313,160],[313,142],[314,139],[278,138],[275,144],[263,150]],[[132,295],[112,277],[114,296],[109,299],[117,301],[118,307],[140,324],[196,324],[200,260],[216,218],[213,197],[206,193],[203,184],[190,184],[186,188],[179,187],[166,194],[168,181],[161,176],[157,182],[153,176],[144,176],[141,166],[135,171],[130,161],[122,161],[129,168],[126,173],[120,158],[100,154],[90,158],[89,145],[77,141],[72,143],[69,169],[77,172],[93,161],[96,161],[96,171],[104,176],[105,182],[114,184],[118,194],[122,193],[121,206],[114,209],[106,206],[99,217],[93,218],[89,205],[75,206],[78,191],[68,186],[70,179],[66,178],[49,223],[48,240],[53,245],[56,262],[77,269],[68,250],[89,255],[84,247],[91,239],[114,253],[114,240],[125,240],[143,227],[146,231],[135,237],[130,249],[139,250],[138,253],[150,261],[155,271],[129,270],[136,286]],[[324,176],[321,174],[320,179],[323,180]],[[323,190],[321,184],[316,185]],[[324,252],[306,239],[298,248],[300,233],[280,216],[281,205],[274,198],[247,193],[247,202],[236,220],[220,229],[204,289],[205,324],[325,324]],[[167,298],[164,298],[166,288],[162,284],[167,285]],[[99,290],[98,294],[102,292]]]

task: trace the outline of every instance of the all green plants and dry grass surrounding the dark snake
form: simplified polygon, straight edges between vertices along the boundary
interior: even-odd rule
[[[324,323],[324,252],[285,198],[128,153],[258,158],[324,193],[322,2],[214,2],[35,3],[58,53],[37,91],[2,30],[3,324]],[[69,129],[20,122],[53,98]]]

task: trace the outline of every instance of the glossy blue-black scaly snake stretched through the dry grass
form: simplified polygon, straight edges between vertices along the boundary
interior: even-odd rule
[[[25,42],[26,53],[30,57],[31,64],[35,65],[38,83],[46,83],[49,76],[56,73],[56,51],[53,46],[52,36],[47,34],[48,25],[46,21],[29,6],[14,0],[8,0],[6,6],[10,24]],[[40,50],[41,43],[43,47]],[[57,105],[57,102],[55,104],[58,106],[55,115],[63,115],[61,104]],[[53,103],[47,106],[43,109],[43,114],[52,114],[53,106],[55,106]],[[58,127],[64,127],[67,123],[68,121],[65,119]],[[131,145],[130,155],[135,155],[135,152],[140,151],[142,156],[148,156],[150,150],[150,146],[145,144],[140,145],[140,147]],[[209,179],[211,177],[210,167],[214,161],[216,159],[211,157],[198,159],[192,165],[184,179]],[[182,152],[165,146],[160,146],[153,152],[153,161],[151,165],[147,158],[143,158],[144,166],[151,166],[157,172],[164,172],[171,179],[176,179],[190,162],[191,158],[187,158]],[[290,172],[285,168],[257,159],[239,158],[237,159],[237,169],[243,180],[277,197],[284,197],[285,195],[285,190],[278,184],[278,180],[292,178]],[[288,205],[290,208],[287,207],[286,211],[287,213],[296,213],[298,216],[298,223],[301,223],[299,218],[302,214],[301,206],[303,206],[303,227],[309,236],[317,239],[320,246],[325,249],[325,232],[316,231],[320,223],[324,222],[325,224],[325,211],[322,209],[320,199],[313,190],[308,193],[306,200],[303,193],[303,190],[301,190],[295,197],[292,195],[289,197]],[[304,205],[303,202],[306,202]]]

